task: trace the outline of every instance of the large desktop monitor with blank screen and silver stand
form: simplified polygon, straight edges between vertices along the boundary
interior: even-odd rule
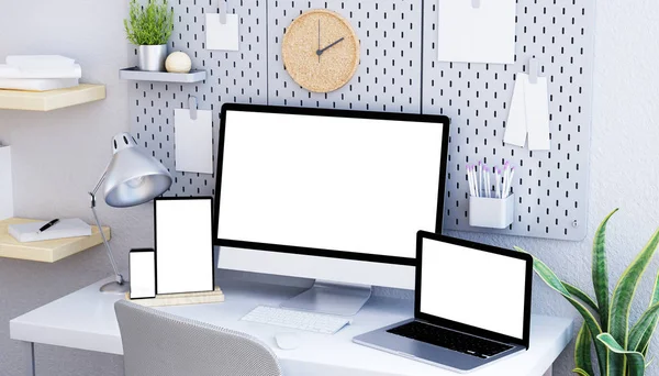
[[[448,123],[224,104],[219,267],[314,278],[283,306],[331,313],[356,313],[371,285],[413,289],[416,232],[442,229]]]

